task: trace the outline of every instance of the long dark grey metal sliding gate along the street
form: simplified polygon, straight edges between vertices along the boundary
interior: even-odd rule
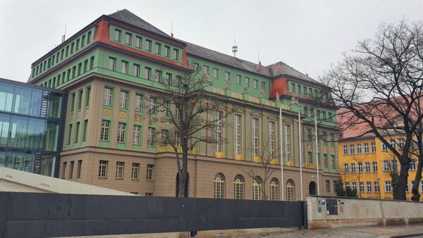
[[[304,201],[0,192],[0,237],[305,227]]]

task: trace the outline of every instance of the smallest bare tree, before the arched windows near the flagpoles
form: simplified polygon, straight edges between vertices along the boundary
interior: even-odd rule
[[[251,177],[252,180],[263,176],[262,181],[260,181],[261,184],[259,184],[259,192],[262,193],[263,200],[269,199],[266,192],[266,184],[269,180],[271,180],[271,177],[276,170],[276,163],[274,163],[274,161],[277,161],[276,155],[278,154],[276,151],[276,144],[270,145],[270,143],[271,142],[267,140],[264,142],[262,149],[259,150],[259,166],[252,166],[252,168],[243,169],[243,172],[248,177]]]

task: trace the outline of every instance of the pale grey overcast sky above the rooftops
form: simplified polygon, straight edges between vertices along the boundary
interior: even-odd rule
[[[102,14],[126,8],[175,37],[263,65],[283,61],[316,78],[381,22],[422,20],[423,1],[0,0],[0,77],[30,65]],[[259,58],[259,59],[258,59]],[[307,66],[306,66],[307,65]]]

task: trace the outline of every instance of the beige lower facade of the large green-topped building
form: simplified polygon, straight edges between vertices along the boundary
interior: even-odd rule
[[[111,87],[114,89],[113,105],[103,106],[104,87]],[[85,96],[87,89],[90,88],[90,96]],[[176,161],[174,155],[168,152],[147,152],[147,130],[148,127],[155,127],[159,130],[164,125],[161,125],[161,114],[154,116],[147,116],[143,113],[135,113],[135,93],[144,95],[144,106],[147,104],[147,98],[153,95],[159,98],[161,92],[157,89],[149,89],[148,87],[140,87],[137,84],[131,84],[118,79],[107,79],[99,76],[87,77],[80,80],[78,84],[72,84],[68,87],[69,94],[75,93],[74,109],[71,111],[71,100],[68,100],[68,114],[66,118],[66,125],[77,125],[80,128],[72,127],[69,138],[64,138],[63,148],[61,153],[61,165],[59,170],[59,177],[66,180],[73,180],[76,182],[84,182],[100,187],[107,187],[111,189],[118,189],[124,192],[133,192],[148,196],[175,196],[176,195]],[[82,90],[82,105],[78,109],[78,92]],[[130,98],[128,100],[128,109],[123,110],[119,108],[119,92],[125,90],[129,92]],[[89,104],[85,100],[90,100]],[[88,106],[85,106],[88,105]],[[252,199],[252,177],[249,177],[246,171],[254,168],[257,175],[264,177],[264,169],[262,163],[253,162],[251,153],[251,137],[252,132],[251,120],[258,118],[260,127],[260,146],[264,146],[264,138],[269,134],[269,121],[273,121],[278,125],[277,111],[272,108],[258,108],[255,104],[245,103],[241,104],[238,101],[228,101],[226,107],[227,123],[231,124],[235,114],[241,115],[243,118],[243,156],[239,158],[234,155],[234,129],[233,126],[224,127],[224,133],[227,137],[227,143],[223,144],[223,158],[217,158],[215,154],[214,144],[202,143],[196,151],[190,154],[188,163],[189,173],[189,189],[188,196],[191,197],[214,197],[214,177],[217,173],[222,173],[225,176],[224,197],[226,199],[234,198],[233,182],[236,175],[243,175],[244,180],[244,198]],[[295,115],[289,111],[283,112],[283,125],[291,125],[291,157],[292,163],[284,166],[284,188],[288,180],[293,180],[295,183],[293,199],[300,199],[300,168],[298,161],[298,123]],[[88,119],[86,132],[82,132],[82,122]],[[110,120],[109,131],[109,146],[104,146],[100,139],[102,120]],[[125,143],[118,143],[117,140],[117,124],[116,122],[125,123]],[[140,146],[133,146],[133,125],[141,125],[141,139]],[[311,127],[307,123],[302,123],[303,128]],[[65,134],[69,134],[70,127],[66,127]],[[79,130],[79,132],[76,132]],[[206,133],[206,132],[203,132]],[[78,134],[78,138],[75,136]],[[85,134],[85,141],[82,139]],[[278,144],[278,126],[276,127],[276,141]],[[305,143],[308,144],[308,143]],[[121,146],[119,148],[119,146]],[[314,146],[314,144],[309,144]],[[137,148],[135,148],[137,147]],[[333,150],[334,146],[321,146],[319,150],[329,151]],[[154,149],[158,148],[155,144]],[[305,148],[304,148],[305,149]],[[286,151],[284,151],[284,154]],[[285,156],[285,155],[284,155]],[[304,161],[306,154],[303,154]],[[73,162],[72,162],[73,161]],[[79,162],[80,161],[80,162]],[[106,161],[106,175],[99,176],[100,161]],[[276,158],[279,161],[279,158]],[[118,173],[116,177],[116,169],[123,166],[123,175]],[[122,164],[123,162],[123,164]],[[104,162],[103,162],[104,163]],[[133,163],[139,163],[140,167],[137,176],[133,177]],[[65,166],[66,164],[66,166]],[[73,168],[71,169],[71,165]],[[154,172],[152,180],[147,180],[147,165],[154,165]],[[269,186],[271,178],[276,178],[278,182],[281,181],[281,166],[277,162],[271,165],[274,168],[274,173],[266,181],[266,194],[269,196]],[[136,170],[136,168],[135,168]],[[334,194],[334,182],[338,179],[336,173],[324,173],[319,170],[319,187],[321,195]],[[309,194],[309,183],[317,182],[317,173],[315,169],[303,168],[302,183],[303,194]],[[329,182],[329,184],[327,184]],[[281,199],[281,186],[279,184],[278,199]],[[287,192],[285,192],[287,196]],[[269,199],[269,198],[268,198]],[[286,199],[286,198],[285,198]]]

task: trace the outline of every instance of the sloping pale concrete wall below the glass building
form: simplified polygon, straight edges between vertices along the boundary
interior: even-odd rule
[[[55,177],[37,175],[35,173],[27,173],[11,168],[0,168],[0,180],[8,180],[18,184],[25,184],[30,187],[43,189],[47,192],[58,194],[97,194],[97,195],[121,195],[131,196],[127,192],[121,192],[114,189],[106,189],[104,187],[92,186],[90,184],[82,184],[79,182],[71,182],[61,180]],[[134,195],[135,196],[135,195]]]

